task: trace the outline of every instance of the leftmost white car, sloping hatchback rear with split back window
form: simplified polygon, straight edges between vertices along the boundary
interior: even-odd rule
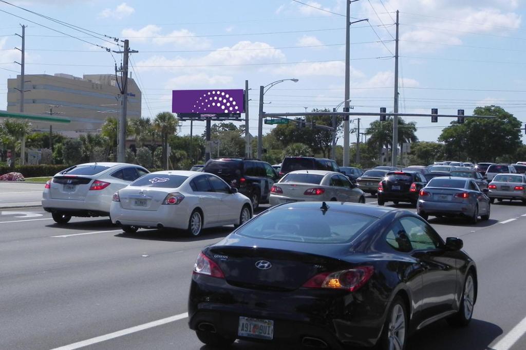
[[[66,224],[72,216],[108,216],[113,194],[148,173],[140,165],[127,163],[74,165],[46,183],[42,207],[57,224]]]

